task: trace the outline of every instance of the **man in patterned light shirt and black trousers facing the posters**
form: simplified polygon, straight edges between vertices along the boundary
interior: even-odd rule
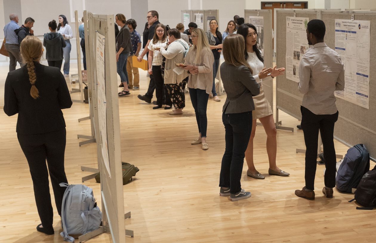
[[[306,145],[305,187],[295,194],[309,200],[315,199],[314,182],[318,147],[318,131],[324,146],[325,176],[323,193],[333,197],[335,187],[334,123],[338,119],[335,90],[344,90],[344,70],[341,57],[324,43],[325,24],[311,20],[307,26],[308,44],[299,67],[300,93],[304,94],[302,106],[302,129]]]

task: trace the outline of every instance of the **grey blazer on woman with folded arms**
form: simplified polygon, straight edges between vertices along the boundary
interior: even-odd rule
[[[252,96],[260,93],[260,86],[246,66],[221,65],[221,79],[227,99],[223,105],[226,114],[255,110]]]

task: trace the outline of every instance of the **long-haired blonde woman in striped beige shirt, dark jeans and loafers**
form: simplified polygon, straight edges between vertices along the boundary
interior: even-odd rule
[[[206,107],[208,106],[209,94],[212,89],[212,72],[214,57],[210,50],[205,32],[196,28],[192,30],[191,40],[193,47],[188,51],[185,58],[185,70],[188,72],[188,88],[191,102],[196,114],[197,126],[199,127],[199,138],[194,139],[191,144],[202,144],[201,148],[209,148],[206,143],[206,129],[208,118]]]

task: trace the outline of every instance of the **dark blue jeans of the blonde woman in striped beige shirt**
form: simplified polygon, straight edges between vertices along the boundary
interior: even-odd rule
[[[189,88],[191,102],[196,114],[197,126],[202,138],[206,138],[208,118],[206,117],[206,107],[208,106],[209,95],[206,90]]]

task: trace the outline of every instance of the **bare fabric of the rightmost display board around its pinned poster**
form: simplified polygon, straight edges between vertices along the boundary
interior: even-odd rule
[[[321,12],[321,19],[326,26],[324,40],[327,46],[335,48],[335,20],[351,20],[352,15],[355,20],[371,21],[370,45],[373,46],[376,38],[376,12],[324,10]],[[364,144],[373,158],[376,158],[376,70],[372,68],[375,62],[376,49],[370,48],[369,109],[337,98],[339,117],[334,130],[335,137],[349,146]]]

